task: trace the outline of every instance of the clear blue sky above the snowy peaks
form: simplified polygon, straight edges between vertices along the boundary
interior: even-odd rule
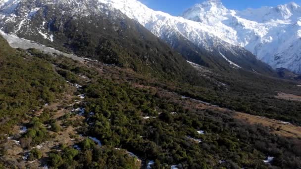
[[[140,0],[154,10],[160,10],[178,16],[185,9],[204,0]],[[276,6],[294,1],[301,4],[301,0],[222,0],[228,9],[258,8],[260,6]]]

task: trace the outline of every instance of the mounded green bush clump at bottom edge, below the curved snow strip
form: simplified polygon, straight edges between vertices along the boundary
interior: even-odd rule
[[[61,145],[61,151],[49,155],[48,165],[55,169],[139,169],[137,160],[124,150],[99,147],[87,138],[79,143],[81,150]]]

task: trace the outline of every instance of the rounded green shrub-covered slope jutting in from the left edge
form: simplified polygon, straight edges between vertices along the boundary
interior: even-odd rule
[[[2,137],[33,110],[59,99],[66,82],[53,71],[50,63],[11,48],[0,36],[0,84]]]

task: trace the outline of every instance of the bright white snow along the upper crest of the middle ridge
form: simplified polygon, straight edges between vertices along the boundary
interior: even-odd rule
[[[214,32],[210,32],[210,28],[203,23],[171,16],[161,11],[154,11],[137,0],[99,1],[119,9],[129,18],[145,26],[157,37],[164,37],[166,33],[176,31],[185,38],[208,50],[212,50],[211,45],[214,45],[214,43],[217,42],[216,40],[219,40],[219,38],[214,35]],[[207,43],[204,43],[203,40],[207,40]],[[220,43],[221,42],[222,41],[220,41]]]

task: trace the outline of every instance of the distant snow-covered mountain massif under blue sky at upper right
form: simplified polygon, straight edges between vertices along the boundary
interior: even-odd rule
[[[220,0],[207,0],[182,16],[210,27],[223,41],[245,47],[273,68],[301,73],[301,7],[294,2],[237,11]]]

